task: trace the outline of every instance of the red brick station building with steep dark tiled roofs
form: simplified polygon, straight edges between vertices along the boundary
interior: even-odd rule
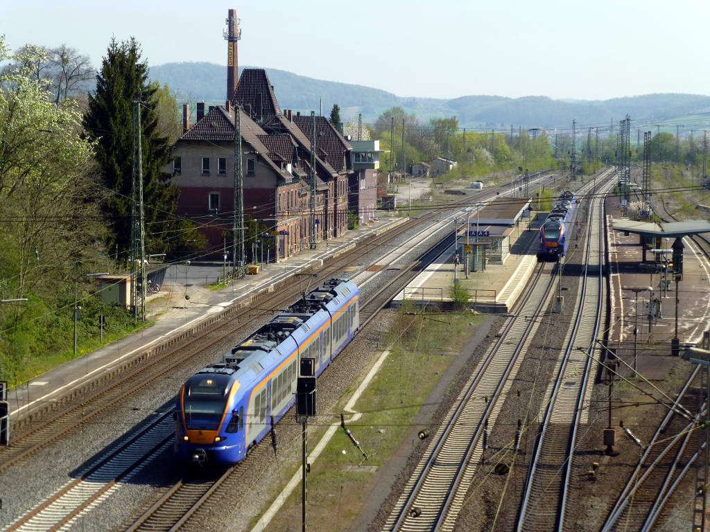
[[[197,102],[197,121],[191,125],[189,105],[183,105],[183,133],[175,145],[173,167],[165,169],[180,187],[176,214],[195,221],[207,236],[205,255],[221,258],[227,233],[231,257],[234,110],[239,106],[244,215],[271,238],[271,260],[283,260],[310,245],[312,118],[280,109],[265,70],[244,69],[235,83],[236,41],[227,44],[234,48],[228,52],[224,106],[205,109]],[[375,217],[375,170],[354,170],[359,155],[327,118],[315,116],[317,242],[347,231],[348,211],[357,214],[360,224]],[[245,240],[249,258],[253,242],[248,234]],[[258,240],[263,241],[261,236]]]

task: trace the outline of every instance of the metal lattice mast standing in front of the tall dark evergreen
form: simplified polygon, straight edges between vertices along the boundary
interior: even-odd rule
[[[141,150],[141,100],[133,100],[133,188],[131,194],[131,306],[146,321],[146,245],[143,223],[143,151]],[[138,290],[140,286],[140,291]],[[139,303],[140,301],[140,303]],[[138,305],[141,310],[138,311]]]

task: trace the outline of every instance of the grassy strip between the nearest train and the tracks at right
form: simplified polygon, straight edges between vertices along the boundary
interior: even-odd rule
[[[391,353],[355,404],[354,409],[362,417],[347,423],[349,416],[346,416],[348,428],[368,459],[364,460],[339,428],[312,464],[308,477],[310,530],[354,529],[368,495],[379,482],[391,482],[381,479],[378,471],[395,455],[408,454],[413,449],[414,443],[410,447],[404,441],[405,433],[413,426],[415,416],[441,375],[485,318],[469,311],[420,314],[408,306],[400,311],[385,343],[391,346]],[[350,396],[351,391],[344,394],[333,409],[332,422],[339,422],[339,409]],[[318,439],[318,435],[309,436],[310,448]],[[266,530],[300,529],[300,519],[301,498],[297,489]]]

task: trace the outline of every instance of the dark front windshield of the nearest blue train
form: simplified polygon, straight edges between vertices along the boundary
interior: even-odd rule
[[[226,375],[192,375],[185,384],[185,426],[189,430],[216,431],[229,392]]]

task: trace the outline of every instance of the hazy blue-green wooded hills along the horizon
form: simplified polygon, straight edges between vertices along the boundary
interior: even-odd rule
[[[240,69],[241,72],[241,69]],[[634,120],[663,120],[679,115],[710,111],[710,96],[697,94],[647,94],[609,100],[553,100],[546,96],[461,96],[455,99],[396,96],[391,92],[322,79],[299,76],[285,70],[267,68],[282,109],[324,114],[338,104],[341,116],[349,119],[357,113],[363,121],[373,122],[385,109],[400,106],[422,120],[432,116],[457,116],[459,126],[510,128],[569,127],[572,118],[580,124],[606,125],[628,113]],[[208,62],[168,63],[151,67],[151,79],[167,83],[178,94],[178,101],[224,102],[226,68]],[[416,87],[415,84],[413,87]]]

